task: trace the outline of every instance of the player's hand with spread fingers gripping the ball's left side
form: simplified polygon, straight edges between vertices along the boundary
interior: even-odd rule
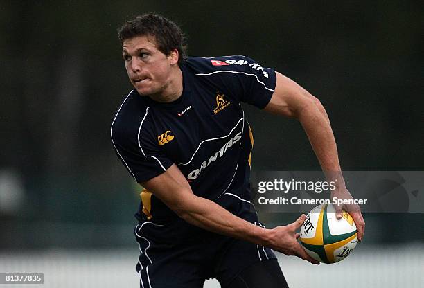
[[[292,224],[273,228],[273,237],[270,248],[284,253],[285,255],[295,255],[303,260],[311,262],[312,264],[319,264],[319,262],[310,257],[310,255],[306,253],[305,249],[303,249],[303,246],[297,242],[297,238],[300,237],[300,234],[296,231],[302,226],[305,219],[306,215],[302,214],[301,217]]]

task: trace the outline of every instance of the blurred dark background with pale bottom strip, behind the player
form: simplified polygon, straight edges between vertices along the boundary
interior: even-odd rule
[[[131,89],[116,37],[127,17],[158,12],[182,26],[188,55],[247,55],[299,82],[326,107],[344,170],[424,170],[423,3],[0,1],[0,273],[44,272],[47,287],[138,285],[139,188],[109,140]],[[319,170],[297,121],[245,109],[254,170]],[[423,214],[364,217],[351,264],[281,260],[293,287],[351,287],[353,274],[333,273],[347,265],[362,286],[420,287]]]

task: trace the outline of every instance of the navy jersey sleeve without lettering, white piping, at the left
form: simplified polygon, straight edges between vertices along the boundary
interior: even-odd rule
[[[148,136],[139,141],[137,131],[112,125],[111,137],[118,158],[139,183],[157,177],[173,165]]]

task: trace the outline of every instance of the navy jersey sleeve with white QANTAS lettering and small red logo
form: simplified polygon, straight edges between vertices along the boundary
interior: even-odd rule
[[[263,109],[274,93],[276,74],[245,56],[224,56],[209,59],[210,73],[239,102]],[[200,73],[202,75],[202,73]]]

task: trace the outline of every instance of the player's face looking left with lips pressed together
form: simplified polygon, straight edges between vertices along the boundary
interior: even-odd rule
[[[126,39],[122,53],[130,82],[140,95],[160,95],[168,87],[177,51],[167,56],[157,49],[154,37],[143,35]]]

